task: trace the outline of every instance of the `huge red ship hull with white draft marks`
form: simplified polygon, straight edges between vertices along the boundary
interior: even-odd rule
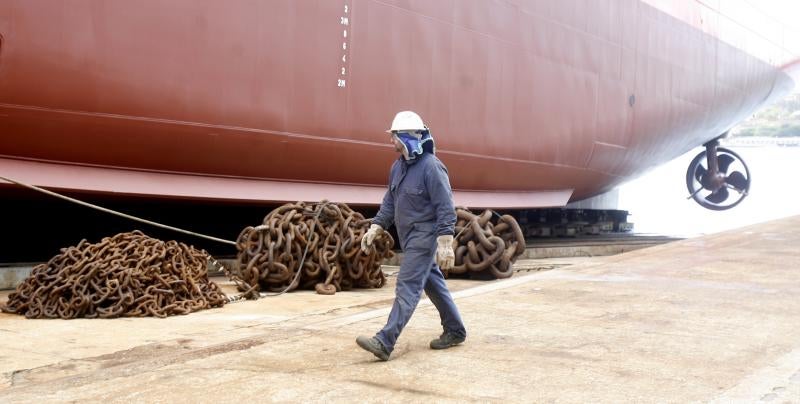
[[[411,109],[457,203],[562,206],[794,86],[692,23],[715,9],[680,4],[682,16],[635,0],[6,0],[0,175],[377,204],[396,158],[384,130]]]

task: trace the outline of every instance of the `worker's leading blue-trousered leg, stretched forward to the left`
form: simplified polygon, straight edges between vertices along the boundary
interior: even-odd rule
[[[386,322],[386,326],[375,334],[375,338],[390,353],[394,350],[394,344],[397,342],[400,332],[408,324],[414,309],[417,308],[417,303],[422,296],[422,289],[425,287],[425,281],[430,273],[434,252],[432,248],[414,248],[406,250],[403,254],[389,320]]]

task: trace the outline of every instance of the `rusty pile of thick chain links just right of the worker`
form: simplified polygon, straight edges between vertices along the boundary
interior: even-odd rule
[[[495,221],[491,210],[475,215],[467,209],[456,208],[455,266],[445,276],[508,278],[511,266],[525,251],[525,236],[516,219],[502,215]]]

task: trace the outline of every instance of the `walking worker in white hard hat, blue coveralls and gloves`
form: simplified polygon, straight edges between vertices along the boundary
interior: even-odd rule
[[[433,137],[416,113],[399,112],[387,132],[400,156],[392,165],[389,188],[361,239],[361,249],[369,251],[375,238],[394,224],[404,253],[403,262],[386,326],[374,337],[356,339],[358,346],[384,361],[389,360],[423,289],[439,311],[443,328],[430,347],[450,348],[464,342],[467,336],[440,269],[452,268],[455,260],[456,214],[447,168],[434,155]]]

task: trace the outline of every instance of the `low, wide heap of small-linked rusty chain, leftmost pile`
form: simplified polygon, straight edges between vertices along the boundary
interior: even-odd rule
[[[166,317],[225,304],[208,280],[208,254],[136,230],[62,248],[8,296],[28,318]]]

